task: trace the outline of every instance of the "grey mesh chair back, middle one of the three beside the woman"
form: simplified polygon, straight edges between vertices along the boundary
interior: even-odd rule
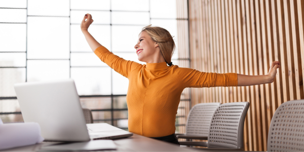
[[[249,102],[224,103],[213,114],[208,148],[244,148],[244,122]]]

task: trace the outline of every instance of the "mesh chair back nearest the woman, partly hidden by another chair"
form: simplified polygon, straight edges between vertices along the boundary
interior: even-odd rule
[[[209,125],[214,111],[220,103],[199,103],[189,112],[186,123],[186,135],[208,136]]]

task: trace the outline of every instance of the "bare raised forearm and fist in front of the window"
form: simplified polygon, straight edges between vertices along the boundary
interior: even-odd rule
[[[88,31],[88,28],[93,23],[93,21],[94,20],[92,19],[91,14],[86,14],[83,21],[80,24],[80,27],[81,27],[81,31],[84,33],[84,35],[86,37],[86,40],[87,40],[89,46],[91,47],[92,51],[94,52],[98,47],[101,46],[101,44],[99,44]]]

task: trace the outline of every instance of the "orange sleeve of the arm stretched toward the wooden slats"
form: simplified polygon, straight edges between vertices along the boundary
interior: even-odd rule
[[[237,73],[201,72],[192,68],[182,68],[181,73],[181,81],[185,88],[238,86]]]

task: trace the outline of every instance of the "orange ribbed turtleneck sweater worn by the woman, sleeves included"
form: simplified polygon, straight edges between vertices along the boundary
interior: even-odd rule
[[[139,64],[98,47],[94,53],[129,79],[129,131],[146,137],[174,134],[181,92],[187,87],[238,86],[237,73],[208,73],[166,62]]]

